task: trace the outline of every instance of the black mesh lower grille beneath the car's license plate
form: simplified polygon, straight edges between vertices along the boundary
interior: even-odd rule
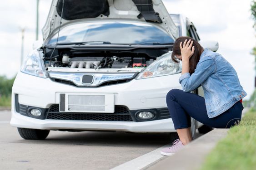
[[[72,113],[59,112],[59,105],[51,105],[46,119],[76,121],[133,121],[125,106],[115,106],[114,113]]]

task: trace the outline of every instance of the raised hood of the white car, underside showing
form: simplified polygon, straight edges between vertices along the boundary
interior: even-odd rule
[[[176,39],[178,28],[161,0],[52,0],[42,29],[43,39],[55,34],[59,26],[91,19],[134,19],[151,22]],[[63,13],[61,19],[61,11]],[[61,24],[60,24],[61,19]]]

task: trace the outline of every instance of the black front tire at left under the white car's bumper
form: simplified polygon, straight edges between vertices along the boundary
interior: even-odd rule
[[[40,130],[40,129],[26,129],[19,128],[18,132],[23,139],[29,140],[44,140],[50,131],[48,130]]]

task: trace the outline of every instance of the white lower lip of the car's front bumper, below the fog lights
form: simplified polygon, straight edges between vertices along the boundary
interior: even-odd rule
[[[131,132],[171,132],[174,125],[169,119],[143,122],[124,121],[66,121],[66,120],[40,120],[12,114],[11,126],[44,130],[99,130],[99,131],[131,131]]]

